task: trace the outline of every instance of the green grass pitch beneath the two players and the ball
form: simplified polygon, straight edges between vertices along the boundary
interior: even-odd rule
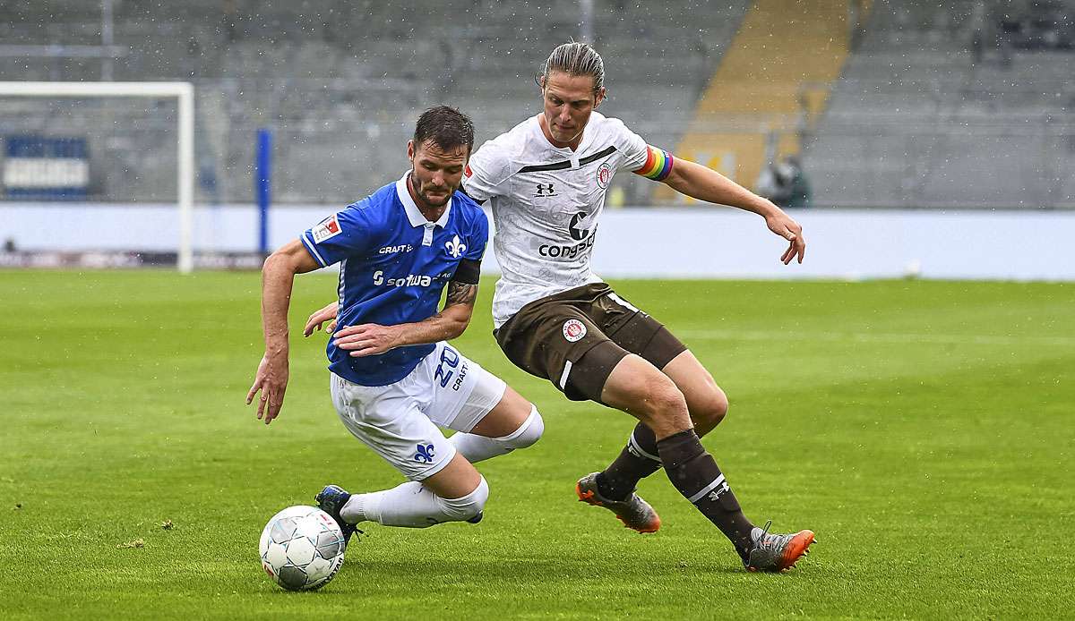
[[[316,593],[270,583],[266,520],[400,477],[336,419],[334,280],[300,276],[266,427],[259,275],[0,271],[0,611],[19,618],[1057,618],[1075,592],[1075,286],[639,281],[731,399],[704,444],[751,519],[819,544],[745,573],[658,473],[656,535],[575,501],[632,421],[512,366],[491,280],[458,341],[535,402],[534,447],[481,464],[479,525],[373,525]],[[171,529],[162,528],[170,521]],[[142,547],[124,547],[133,541]]]

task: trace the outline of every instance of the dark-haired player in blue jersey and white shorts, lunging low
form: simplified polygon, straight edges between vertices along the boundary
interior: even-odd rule
[[[266,352],[247,404],[260,391],[258,418],[280,415],[295,275],[340,263],[338,324],[347,331],[328,344],[332,403],[347,430],[408,479],[372,493],[318,493],[347,538],[366,520],[477,522],[489,487],[473,463],[530,446],[544,430],[532,404],[446,343],[470,322],[488,237],[482,208],[456,191],[473,144],[465,115],[426,111],[401,179],[306,230],[262,270]],[[457,433],[447,439],[440,428]]]

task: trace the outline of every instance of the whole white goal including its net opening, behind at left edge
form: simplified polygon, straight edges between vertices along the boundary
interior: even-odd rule
[[[189,83],[0,82],[4,262],[189,272],[194,131]]]

